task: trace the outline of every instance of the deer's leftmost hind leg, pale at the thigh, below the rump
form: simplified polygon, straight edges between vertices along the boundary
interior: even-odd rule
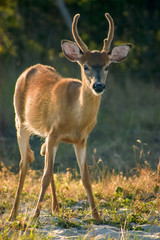
[[[29,137],[30,133],[29,131],[20,123],[16,123],[17,126],[17,140],[19,145],[19,150],[21,154],[21,161],[19,164],[20,170],[20,178],[19,178],[19,185],[15,197],[15,202],[11,211],[10,219],[15,219],[18,215],[18,207],[20,202],[20,197],[24,185],[24,180],[29,168],[29,163],[34,161],[34,154],[33,151],[30,149],[29,146]]]

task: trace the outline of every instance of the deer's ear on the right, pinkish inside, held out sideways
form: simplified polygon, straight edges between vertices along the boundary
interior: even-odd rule
[[[109,53],[109,60],[111,62],[119,63],[127,58],[129,51],[132,48],[132,44],[121,44],[114,47]]]

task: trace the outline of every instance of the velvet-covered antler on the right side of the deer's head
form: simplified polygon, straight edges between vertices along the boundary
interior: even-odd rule
[[[105,17],[108,20],[109,23],[109,30],[108,30],[108,36],[104,39],[103,49],[102,51],[108,52],[111,46],[111,42],[113,40],[114,36],[114,21],[112,17],[109,15],[109,13],[105,14]]]

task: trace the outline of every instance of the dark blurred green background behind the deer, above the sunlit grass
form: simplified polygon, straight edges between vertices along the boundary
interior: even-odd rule
[[[107,37],[105,12],[115,22],[112,46],[133,44],[127,61],[112,64],[98,124],[88,139],[88,162],[130,172],[156,168],[160,158],[160,1],[159,0],[0,0],[0,162],[17,172],[20,160],[14,126],[13,94],[19,75],[42,63],[65,77],[80,78],[78,64],[62,54],[61,40],[73,40],[71,22],[81,17],[79,34],[90,50]],[[36,161],[43,140],[31,138]],[[56,168],[76,168],[72,146],[61,144]]]

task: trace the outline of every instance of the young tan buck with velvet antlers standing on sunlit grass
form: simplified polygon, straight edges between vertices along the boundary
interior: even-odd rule
[[[107,39],[104,39],[103,49],[101,52],[89,51],[77,31],[79,16],[79,14],[75,15],[72,23],[72,34],[76,43],[63,40],[62,50],[70,61],[79,63],[82,81],[63,78],[54,68],[41,64],[25,70],[17,80],[14,107],[21,162],[19,186],[10,219],[14,219],[18,214],[20,195],[27,170],[29,164],[34,161],[34,154],[29,145],[30,135],[34,133],[45,138],[45,143],[41,148],[41,154],[45,156],[45,167],[34,217],[40,214],[43,198],[50,183],[52,210],[59,209],[53,165],[58,144],[67,142],[74,146],[92,216],[99,220],[87,167],[87,137],[97,121],[108,67],[112,62],[121,62],[127,58],[131,44],[122,44],[110,50],[114,35],[114,22],[106,13],[109,31]]]

